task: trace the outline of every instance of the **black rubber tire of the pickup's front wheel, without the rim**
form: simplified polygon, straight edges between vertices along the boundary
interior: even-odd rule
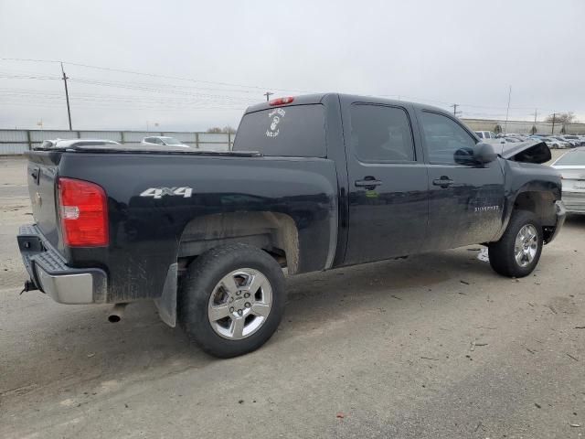
[[[516,237],[522,228],[532,226],[537,232],[536,254],[531,262],[521,265],[516,261]],[[524,277],[532,273],[537,266],[543,246],[542,226],[536,215],[527,210],[515,210],[500,241],[488,245],[490,264],[496,273],[508,277]]]

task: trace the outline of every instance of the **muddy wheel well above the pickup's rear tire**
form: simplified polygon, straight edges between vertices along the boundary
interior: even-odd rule
[[[207,250],[233,242],[259,247],[271,254],[289,273],[299,262],[299,238],[294,220],[275,212],[229,212],[191,220],[179,243],[179,266]]]

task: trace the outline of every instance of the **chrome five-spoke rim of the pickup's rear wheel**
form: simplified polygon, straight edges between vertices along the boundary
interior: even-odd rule
[[[240,340],[250,337],[266,322],[272,306],[271,283],[251,268],[225,275],[213,289],[207,318],[220,337]]]

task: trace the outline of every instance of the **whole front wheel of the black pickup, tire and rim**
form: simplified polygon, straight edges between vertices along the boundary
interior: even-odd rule
[[[536,215],[516,210],[500,241],[488,246],[490,264],[504,276],[527,276],[536,268],[542,246],[542,226]]]

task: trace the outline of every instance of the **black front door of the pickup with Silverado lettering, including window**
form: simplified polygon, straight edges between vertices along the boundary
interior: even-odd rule
[[[456,119],[420,111],[429,164],[429,236],[423,250],[490,241],[502,226],[504,172],[499,159],[473,161],[475,138]]]

